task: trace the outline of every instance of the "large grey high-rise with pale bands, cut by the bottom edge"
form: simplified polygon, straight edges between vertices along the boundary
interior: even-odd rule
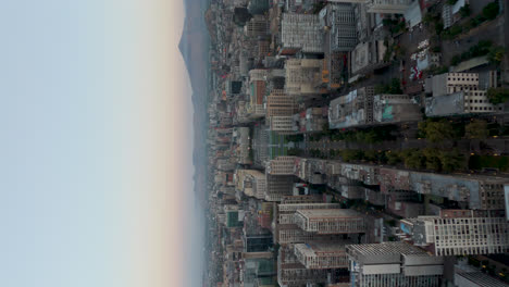
[[[440,286],[443,258],[407,242],[348,245],[346,252],[353,287]]]

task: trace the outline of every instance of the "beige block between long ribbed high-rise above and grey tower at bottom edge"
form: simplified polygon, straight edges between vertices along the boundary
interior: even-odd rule
[[[345,245],[350,241],[296,244],[295,255],[306,269],[347,269]]]

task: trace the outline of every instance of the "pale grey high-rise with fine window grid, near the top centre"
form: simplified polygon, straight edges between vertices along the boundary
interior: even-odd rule
[[[323,34],[318,14],[283,13],[281,39],[284,48],[301,49],[302,52],[322,53]]]

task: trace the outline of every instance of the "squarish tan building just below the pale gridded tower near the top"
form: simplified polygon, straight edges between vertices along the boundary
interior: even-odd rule
[[[323,60],[288,59],[285,63],[285,90],[288,95],[313,95],[320,92]]]

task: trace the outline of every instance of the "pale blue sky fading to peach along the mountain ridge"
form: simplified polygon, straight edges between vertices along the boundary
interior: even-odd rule
[[[197,285],[183,22],[181,0],[2,2],[0,286]]]

